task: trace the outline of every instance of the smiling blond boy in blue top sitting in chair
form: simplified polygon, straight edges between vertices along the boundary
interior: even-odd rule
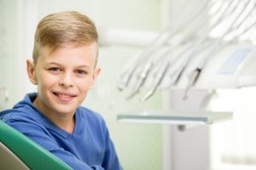
[[[41,144],[73,169],[119,170],[102,116],[81,107],[96,82],[98,35],[74,11],[49,14],[38,24],[27,74],[38,93],[27,94],[3,121]]]

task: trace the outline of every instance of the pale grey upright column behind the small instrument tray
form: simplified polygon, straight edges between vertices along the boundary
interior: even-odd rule
[[[207,105],[214,94],[210,90],[193,88],[189,90],[187,98],[183,99],[184,91],[184,89],[174,89],[168,93],[163,91],[163,107],[169,111],[183,111],[185,108],[189,114],[197,114],[196,111],[207,110]],[[209,167],[209,127],[188,128],[187,126],[191,124],[164,126],[162,153],[164,170],[170,167],[179,170]]]

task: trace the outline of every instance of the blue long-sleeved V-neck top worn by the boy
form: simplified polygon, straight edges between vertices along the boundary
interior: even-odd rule
[[[32,104],[36,97],[36,93],[27,94],[13,109],[0,112],[3,122],[42,145],[73,169],[122,169],[102,116],[79,107],[74,115],[74,131],[67,133],[38,111]]]

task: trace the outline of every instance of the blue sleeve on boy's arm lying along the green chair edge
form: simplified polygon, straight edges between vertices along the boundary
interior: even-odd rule
[[[53,139],[51,139],[51,137],[42,127],[39,127],[32,122],[8,120],[6,123],[11,127],[15,127],[15,129],[20,131],[20,133],[24,133],[28,138],[40,144],[46,150],[49,150],[49,152],[59,157],[62,161],[66,162],[67,165],[75,170],[104,170],[104,168],[101,166],[89,166],[84,161],[80,161],[71,152],[62,149],[57,144],[55,144]]]

